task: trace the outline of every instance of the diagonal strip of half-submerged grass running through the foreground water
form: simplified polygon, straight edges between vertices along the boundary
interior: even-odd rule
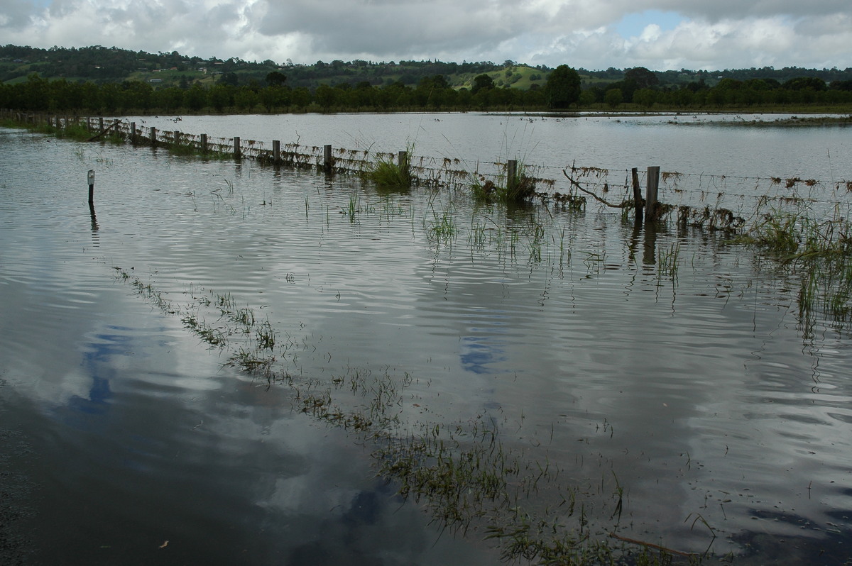
[[[641,541],[607,539],[607,532],[618,529],[617,521],[608,529],[593,530],[591,505],[607,507],[620,519],[623,490],[618,478],[611,493],[598,495],[566,484],[558,466],[506,448],[491,418],[481,415],[454,424],[402,419],[410,374],[347,368],[330,380],[296,379],[280,369],[280,362],[294,357],[291,349],[297,340],[279,340],[268,318],[258,321],[253,310],[238,306],[231,294],[191,287],[191,300],[177,304],[132,272],[113,269],[118,281],[130,284],[162,312],[180,316],[185,328],[221,348],[225,365],[262,378],[268,386],[291,387],[293,403],[302,412],[374,443],[377,473],[393,480],[400,495],[421,502],[446,529],[484,533],[486,540],[498,544],[504,560],[578,566],[669,564],[675,557],[690,563],[701,560],[661,546],[649,552]],[[204,322],[204,312],[218,313],[215,328]],[[349,404],[342,403],[344,393],[351,397]],[[534,504],[531,498],[539,490],[555,494],[552,506],[541,509]],[[596,499],[598,503],[592,503]]]

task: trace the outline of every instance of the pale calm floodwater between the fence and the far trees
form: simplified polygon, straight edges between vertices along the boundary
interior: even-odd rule
[[[625,171],[659,165],[683,174],[852,180],[852,135],[841,126],[734,128],[722,121],[773,122],[790,115],[533,117],[517,114],[282,114],[123,117],[140,126],[398,152],[477,163],[518,159],[561,177],[561,168]],[[547,170],[552,168],[553,170]],[[615,175],[618,176],[618,175]],[[622,175],[623,176],[623,175]],[[622,179],[616,179],[621,181]]]

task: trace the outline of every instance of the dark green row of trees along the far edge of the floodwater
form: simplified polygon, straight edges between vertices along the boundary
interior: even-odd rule
[[[290,112],[290,111],[469,111],[469,110],[568,110],[602,108],[615,110],[631,103],[642,110],[707,109],[749,106],[843,106],[852,104],[852,84],[829,88],[819,79],[802,77],[780,84],[764,79],[722,79],[714,87],[689,83],[680,89],[655,89],[630,78],[607,88],[581,89],[579,74],[559,66],[543,88],[512,89],[493,85],[492,77],[475,77],[472,89],[452,89],[446,77],[424,77],[416,87],[393,83],[374,87],[359,83],[335,86],[320,84],[291,88],[283,73],[269,73],[266,83],[210,87],[193,83],[154,88],[150,83],[74,83],[31,75],[23,83],[0,85],[0,107],[21,111],[122,114],[152,111],[164,113]]]

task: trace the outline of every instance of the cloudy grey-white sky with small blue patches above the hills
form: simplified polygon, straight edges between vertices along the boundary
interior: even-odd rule
[[[850,0],[3,0],[0,43],[279,63],[852,66]]]

